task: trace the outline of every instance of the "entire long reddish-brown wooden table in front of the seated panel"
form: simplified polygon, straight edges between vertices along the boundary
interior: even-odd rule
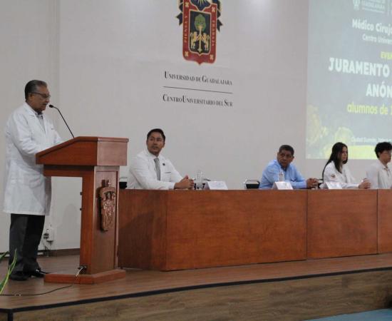
[[[120,190],[118,265],[152,270],[392,251],[392,190]]]

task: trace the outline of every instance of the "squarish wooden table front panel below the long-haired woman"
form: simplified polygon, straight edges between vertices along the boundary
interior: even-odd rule
[[[376,190],[309,190],[308,258],[377,253]]]

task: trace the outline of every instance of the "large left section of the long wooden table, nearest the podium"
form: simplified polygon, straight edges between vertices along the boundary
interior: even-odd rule
[[[304,260],[306,190],[120,191],[119,266]]]

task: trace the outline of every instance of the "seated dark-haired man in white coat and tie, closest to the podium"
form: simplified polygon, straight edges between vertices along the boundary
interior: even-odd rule
[[[172,163],[160,151],[165,147],[165,133],[160,128],[147,134],[147,148],[130,161],[128,178],[129,189],[173,190],[192,189],[193,180],[184,178],[175,170]]]

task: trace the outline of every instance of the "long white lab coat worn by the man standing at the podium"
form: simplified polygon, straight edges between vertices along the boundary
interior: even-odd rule
[[[43,176],[43,165],[36,165],[36,153],[61,143],[61,138],[44,115],[43,125],[27,103],[6,123],[6,213],[49,215],[51,178]]]

